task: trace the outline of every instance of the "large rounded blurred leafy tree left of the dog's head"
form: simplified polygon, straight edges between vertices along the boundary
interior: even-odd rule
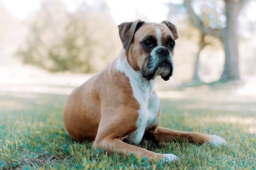
[[[70,12],[61,0],[43,0],[41,10],[27,18],[30,33],[19,56],[25,63],[54,72],[101,70],[120,48],[106,3],[97,5],[95,9],[83,1]]]

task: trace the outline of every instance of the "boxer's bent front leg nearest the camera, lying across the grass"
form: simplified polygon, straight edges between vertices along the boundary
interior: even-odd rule
[[[160,160],[164,162],[172,162],[174,160],[177,160],[178,157],[174,154],[162,154],[162,153],[156,153],[148,151],[147,149],[140,148],[138,146],[134,146],[131,144],[127,144],[123,141],[121,141],[120,138],[111,138],[111,137],[105,137],[100,142],[94,142],[93,146],[94,149],[101,148],[105,151],[109,151],[111,153],[120,153],[120,154],[130,154],[137,156],[140,155],[141,157],[146,157],[148,160]]]

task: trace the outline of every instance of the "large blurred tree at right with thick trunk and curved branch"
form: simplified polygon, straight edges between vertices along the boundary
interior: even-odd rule
[[[206,8],[208,11],[203,11],[201,19],[199,19],[191,6],[190,0],[184,0],[192,23],[203,34],[213,35],[222,42],[225,51],[225,64],[220,80],[238,80],[240,79],[240,72],[237,43],[237,16],[247,1],[225,0],[225,16],[222,14],[223,9],[221,9],[220,0],[214,2],[217,4],[214,5],[212,2],[204,1],[204,3],[210,4],[208,6],[211,6],[211,8]],[[218,7],[218,4],[220,7]],[[222,22],[222,26],[218,26],[216,20],[221,20],[221,18],[222,20],[226,20],[226,22]],[[215,22],[212,20],[215,20]]]

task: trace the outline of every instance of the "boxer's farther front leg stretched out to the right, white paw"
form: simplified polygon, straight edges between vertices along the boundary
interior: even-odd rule
[[[203,144],[205,142],[212,143],[214,145],[225,144],[226,141],[216,135],[205,135],[197,132],[185,132],[178,131],[168,128],[157,127],[155,130],[149,131],[157,141],[170,142],[170,141],[180,141],[188,140],[188,142]]]

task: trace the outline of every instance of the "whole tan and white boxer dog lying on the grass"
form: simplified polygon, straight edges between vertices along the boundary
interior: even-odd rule
[[[185,139],[197,144],[224,144],[225,140],[216,135],[158,126],[161,108],[154,84],[157,76],[165,81],[172,76],[178,39],[175,25],[169,21],[156,24],[136,20],[124,22],[118,29],[123,43],[118,57],[68,97],[63,109],[67,134],[80,142],[94,140],[92,148],[164,162],[178,157],[135,145],[146,135],[164,142]]]

